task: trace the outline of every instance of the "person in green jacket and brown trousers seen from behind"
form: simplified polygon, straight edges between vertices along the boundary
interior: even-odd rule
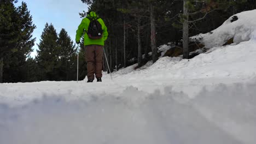
[[[91,38],[89,25],[93,20],[97,20],[101,25],[102,35],[99,38]],[[89,34],[88,34],[89,33]],[[75,41],[80,43],[80,38],[84,34],[84,46],[85,46],[85,59],[87,62],[87,77],[88,82],[93,82],[95,77],[97,82],[101,82],[102,78],[102,63],[103,63],[103,46],[104,41],[108,38],[108,31],[104,21],[98,17],[94,11],[89,11],[87,16],[82,20],[77,29],[77,35]],[[98,33],[100,35],[100,33]]]

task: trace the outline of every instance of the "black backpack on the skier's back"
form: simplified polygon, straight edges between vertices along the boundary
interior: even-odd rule
[[[88,37],[90,39],[101,39],[103,37],[103,31],[102,31],[101,23],[98,22],[98,19],[100,18],[95,19],[95,18],[88,17],[88,19],[90,20],[88,31],[87,31]]]

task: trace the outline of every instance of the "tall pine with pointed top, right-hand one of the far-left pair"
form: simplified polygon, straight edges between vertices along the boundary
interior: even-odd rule
[[[33,51],[35,38],[32,38],[32,32],[36,26],[32,23],[32,16],[27,9],[27,4],[22,2],[21,6],[17,8],[19,16],[19,40],[16,43],[15,52],[8,57],[8,66],[5,67],[5,71],[8,75],[5,75],[11,80],[11,82],[25,82],[26,70],[25,63],[26,58]]]

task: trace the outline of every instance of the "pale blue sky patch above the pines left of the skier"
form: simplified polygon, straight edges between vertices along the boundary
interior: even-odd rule
[[[53,23],[57,33],[61,28],[65,28],[72,40],[75,40],[75,31],[82,21],[79,13],[83,10],[87,11],[88,6],[80,0],[23,0],[27,3],[28,10],[33,16],[33,23],[37,28],[33,32],[33,37],[36,37],[34,52],[31,56],[36,55],[37,44],[40,41],[40,35],[43,32],[45,23]],[[21,4],[19,0],[18,4]]]

